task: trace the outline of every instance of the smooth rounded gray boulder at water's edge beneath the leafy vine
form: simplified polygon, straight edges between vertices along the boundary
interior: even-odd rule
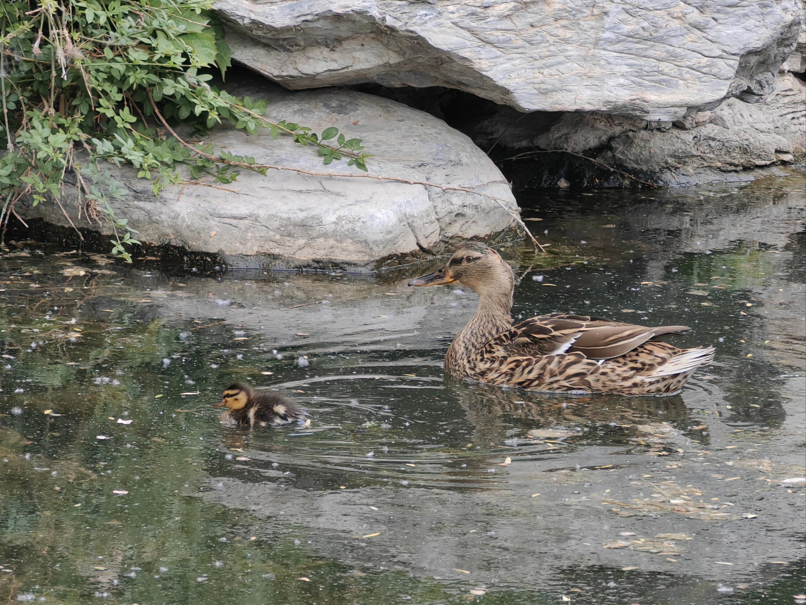
[[[242,170],[227,186],[170,187],[154,198],[149,181],[136,179],[131,169],[116,171],[132,193],[116,202],[115,210],[143,242],[220,252],[236,265],[325,263],[362,269],[385,257],[438,251],[451,238],[489,236],[513,224],[517,205],[501,172],[467,136],[442,120],[351,91],[289,93],[269,85],[234,92],[267,98],[268,119],[298,121],[318,132],[339,127],[347,138],[364,140],[366,150],[376,155],[369,162],[371,175],[469,188],[488,197],[364,178],[346,161],[323,165],[314,149],[289,137],[272,140],[268,130],[247,136],[219,127],[206,143],[253,156],[258,164],[320,174],[270,170],[264,176]],[[79,221],[76,204],[64,206],[79,227],[110,231],[108,223]],[[18,211],[25,218],[67,224],[55,204],[29,204]]]

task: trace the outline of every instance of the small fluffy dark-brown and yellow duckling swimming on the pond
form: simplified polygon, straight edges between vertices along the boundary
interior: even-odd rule
[[[304,421],[305,416],[309,415],[293,399],[268,391],[256,393],[243,382],[227,386],[221,403],[213,407],[230,408],[222,413],[220,422],[250,428],[276,427],[295,420]]]

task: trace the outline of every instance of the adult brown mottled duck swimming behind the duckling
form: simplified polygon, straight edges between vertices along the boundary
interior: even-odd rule
[[[655,340],[687,326],[645,328],[563,313],[513,325],[513,270],[485,244],[463,244],[443,269],[409,286],[454,282],[479,294],[476,315],[445,355],[445,370],[459,378],[533,390],[669,395],[713,361],[713,347],[677,348]]]

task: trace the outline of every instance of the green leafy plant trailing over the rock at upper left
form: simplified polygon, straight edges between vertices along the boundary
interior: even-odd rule
[[[78,192],[79,216],[109,220],[113,254],[131,262],[128,244],[139,244],[126,219],[114,215],[115,200],[128,190],[104,169],[128,164],[164,186],[192,179],[229,183],[235,168],[266,173],[254,158],[214,153],[189,144],[172,128],[183,123],[206,131],[228,121],[272,138],[291,136],[313,146],[326,164],[347,158],[367,171],[370,154],[359,139],[334,127],[318,136],[297,123],[264,118],[266,103],[236,98],[210,84],[230,66],[223,28],[210,11],[213,0],[16,0],[0,2],[0,223],[15,202],[61,200],[65,183]],[[328,141],[335,140],[335,144]],[[338,146],[337,146],[338,145]]]

